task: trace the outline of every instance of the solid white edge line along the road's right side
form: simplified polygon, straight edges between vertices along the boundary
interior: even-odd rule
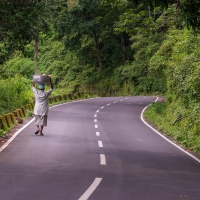
[[[156,101],[158,100],[158,97],[156,99]],[[155,102],[156,102],[155,101]],[[150,104],[151,105],[151,104]],[[172,145],[174,145],[176,148],[178,148],[179,150],[183,151],[185,154],[187,154],[188,156],[192,157],[194,160],[196,160],[197,162],[200,163],[200,159],[198,159],[197,157],[193,156],[192,154],[190,154],[189,152],[185,151],[184,149],[182,149],[180,146],[178,146],[177,144],[173,143],[171,140],[169,140],[168,138],[166,138],[164,135],[162,135],[159,131],[157,131],[156,129],[154,129],[153,127],[151,127],[147,122],[144,121],[144,118],[143,118],[143,113],[144,111],[150,106],[146,106],[143,110],[142,110],[142,113],[140,115],[141,117],[141,120],[150,128],[152,129],[154,132],[156,132],[159,136],[161,136],[162,138],[164,138],[165,140],[167,140],[169,143],[171,143]]]

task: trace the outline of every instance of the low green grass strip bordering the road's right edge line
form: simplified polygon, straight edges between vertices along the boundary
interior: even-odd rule
[[[158,131],[170,136],[183,147],[195,153],[200,153],[199,133],[188,128],[187,119],[174,124],[175,118],[168,112],[167,103],[152,103],[144,112],[144,117],[154,124]]]

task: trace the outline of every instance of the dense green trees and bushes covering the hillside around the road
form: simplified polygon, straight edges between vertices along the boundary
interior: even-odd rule
[[[92,90],[112,96],[165,96],[145,116],[200,152],[198,23],[182,14],[184,3],[177,10],[173,1],[160,1],[167,2],[160,7],[157,1],[137,2],[54,1],[38,18],[47,26],[37,24],[37,35],[27,33],[29,42],[15,46],[10,38],[1,40],[0,114],[32,101],[32,75],[47,73],[56,86],[54,94]]]

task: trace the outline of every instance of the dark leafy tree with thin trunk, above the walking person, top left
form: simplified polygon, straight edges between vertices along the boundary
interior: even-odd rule
[[[48,29],[46,8],[49,3],[43,0],[1,0],[0,43],[3,49],[10,54],[16,49],[23,51],[24,46],[34,40],[37,63],[39,32]],[[2,55],[0,63],[5,61],[6,56]]]

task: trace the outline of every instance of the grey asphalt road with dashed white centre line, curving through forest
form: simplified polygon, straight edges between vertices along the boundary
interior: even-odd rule
[[[156,97],[109,97],[51,108],[0,152],[0,200],[200,199],[200,163],[141,120]]]

